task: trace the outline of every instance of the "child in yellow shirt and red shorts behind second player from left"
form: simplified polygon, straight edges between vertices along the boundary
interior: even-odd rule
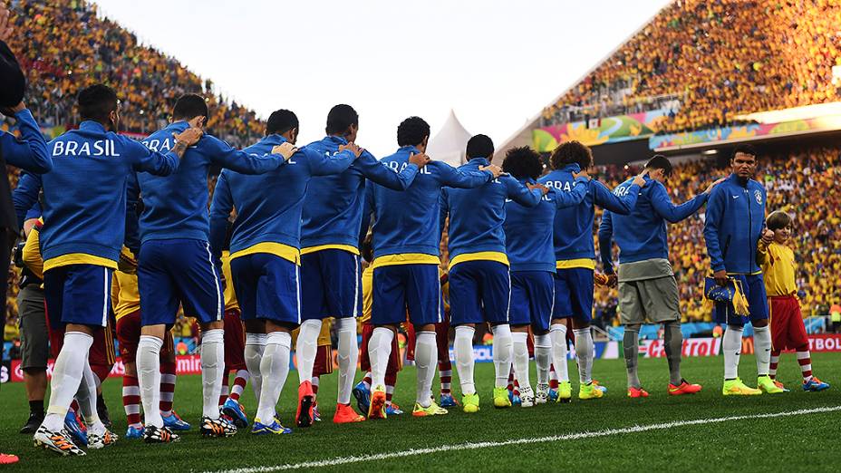
[[[140,383],[137,377],[137,344],[140,342],[140,292],[137,285],[137,261],[131,251],[123,246],[120,265],[111,281],[111,304],[117,319],[117,340],[125,367],[122,376],[122,405],[126,412],[126,439],[141,439],[143,423],[140,421]],[[160,416],[169,430],[189,430],[189,423],[181,420],[172,410],[175,396],[175,349],[172,333],[166,333],[160,351]]]

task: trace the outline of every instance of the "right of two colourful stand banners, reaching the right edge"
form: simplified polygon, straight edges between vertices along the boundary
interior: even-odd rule
[[[838,130],[839,128],[841,128],[841,117],[839,116],[784,121],[781,123],[753,123],[710,130],[655,135],[648,139],[648,148],[657,151],[681,149],[708,143],[720,144],[720,142],[730,140],[755,140],[765,137],[785,136],[791,133],[830,131]]]

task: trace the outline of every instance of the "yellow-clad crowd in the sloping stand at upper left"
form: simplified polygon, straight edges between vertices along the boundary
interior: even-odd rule
[[[175,100],[197,92],[208,99],[208,132],[234,146],[250,144],[264,124],[255,112],[212,92],[176,59],[148,46],[83,0],[13,0],[10,47],[28,74],[26,104],[43,127],[78,122],[75,93],[96,82],[121,92],[122,129],[150,134],[165,126]]]

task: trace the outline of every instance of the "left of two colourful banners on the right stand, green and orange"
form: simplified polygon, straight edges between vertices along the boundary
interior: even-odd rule
[[[537,151],[548,152],[572,140],[587,146],[640,140],[656,133],[660,122],[667,120],[668,115],[668,110],[661,109],[538,128],[532,130],[532,146]]]

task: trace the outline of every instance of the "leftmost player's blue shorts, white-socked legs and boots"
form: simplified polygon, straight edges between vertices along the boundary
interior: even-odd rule
[[[95,265],[60,266],[44,273],[45,297],[53,316],[66,324],[62,350],[53,366],[50,406],[34,434],[35,445],[62,455],[84,455],[63,432],[64,417],[73,395],[86,404],[88,445],[102,448],[116,441],[96,413],[95,381],[88,354],[93,331],[105,326],[111,307],[111,269]],[[86,373],[87,372],[87,373]]]

